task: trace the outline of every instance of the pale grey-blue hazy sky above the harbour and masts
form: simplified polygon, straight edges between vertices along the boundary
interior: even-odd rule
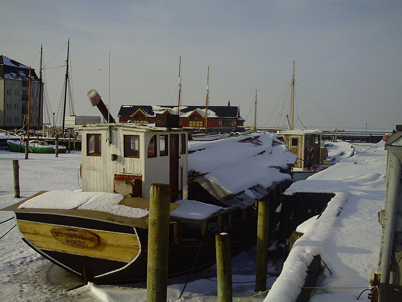
[[[295,127],[393,129],[402,124],[400,1],[4,0],[0,54],[39,73],[53,112],[70,38],[76,115],[100,115],[96,89],[117,119],[121,105],[240,106],[253,125],[284,126],[295,64]],[[325,111],[323,111],[322,109]],[[296,122],[297,120],[297,122]],[[300,123],[301,121],[301,123]]]

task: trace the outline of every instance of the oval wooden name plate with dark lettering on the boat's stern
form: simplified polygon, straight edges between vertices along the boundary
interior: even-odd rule
[[[98,244],[95,234],[69,226],[56,226],[50,230],[50,233],[57,241],[69,246],[93,248]]]

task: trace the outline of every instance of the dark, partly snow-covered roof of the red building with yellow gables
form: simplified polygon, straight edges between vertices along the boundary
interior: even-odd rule
[[[141,108],[144,112],[148,113],[150,116],[155,116],[156,113],[164,113],[166,109],[169,109],[171,112],[176,112],[177,106],[149,106],[149,105],[123,105],[120,107],[120,111],[118,116],[131,116],[134,112],[136,112],[139,108]],[[180,116],[187,116],[194,110],[198,110],[198,112],[205,112],[205,106],[180,106]],[[210,114],[213,112],[213,114]],[[239,112],[239,116],[238,116]],[[205,115],[205,113],[204,113]],[[240,117],[240,110],[237,106],[208,106],[208,116],[216,116],[216,117]]]

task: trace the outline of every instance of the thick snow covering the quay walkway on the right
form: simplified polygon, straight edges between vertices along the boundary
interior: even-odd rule
[[[264,301],[291,302],[304,285],[307,267],[320,254],[333,274],[324,268],[311,301],[356,300],[369,286],[377,269],[380,225],[377,213],[385,196],[386,151],[384,141],[361,150],[351,158],[304,181],[293,183],[284,194],[296,192],[335,193],[322,215],[293,245],[283,270]]]

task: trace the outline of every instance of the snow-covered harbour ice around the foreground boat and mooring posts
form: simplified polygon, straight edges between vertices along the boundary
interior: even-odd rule
[[[12,160],[19,160],[21,198],[14,198]],[[23,200],[41,190],[77,190],[80,188],[78,169],[81,153],[25,154],[0,150],[0,207]],[[0,222],[13,217],[12,212],[0,211]],[[15,224],[14,219],[0,224],[0,237]],[[14,228],[0,239],[1,301],[145,301],[145,284],[108,285],[88,284],[68,291],[81,280],[53,265],[33,251]],[[233,259],[234,300],[254,295],[255,247]],[[275,270],[275,267],[270,268]],[[208,279],[210,280],[208,280]],[[269,288],[276,278],[267,279]],[[178,299],[186,276],[169,279],[168,301],[216,301],[216,267],[191,276],[182,297]],[[247,301],[262,301],[266,293]]]

